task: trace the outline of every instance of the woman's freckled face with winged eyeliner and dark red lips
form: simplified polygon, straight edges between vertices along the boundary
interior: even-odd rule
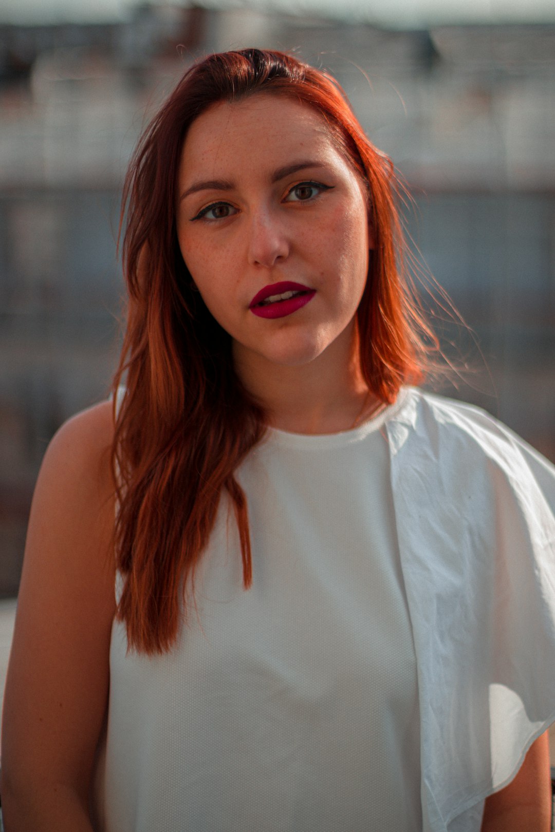
[[[366,196],[320,114],[285,96],[212,106],[179,169],[177,236],[235,362],[299,366],[352,342]]]

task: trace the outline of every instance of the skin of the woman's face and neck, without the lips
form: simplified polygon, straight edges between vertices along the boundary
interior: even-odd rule
[[[377,404],[354,325],[373,240],[364,188],[320,114],[267,94],[217,104],[191,126],[178,183],[181,253],[247,389],[278,428],[349,428]],[[283,280],[315,297],[285,318],[256,317],[253,297]]]

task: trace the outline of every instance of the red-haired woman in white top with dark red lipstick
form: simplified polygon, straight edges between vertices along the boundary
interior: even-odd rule
[[[7,832],[547,832],[553,468],[409,386],[389,160],[325,73],[228,52],[125,198],[126,388],[37,483]]]

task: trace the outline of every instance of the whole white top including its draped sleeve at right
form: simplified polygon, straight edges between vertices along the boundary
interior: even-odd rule
[[[553,465],[404,389],[238,478],[253,586],[222,499],[175,649],[114,622],[95,829],[479,832],[555,721]]]

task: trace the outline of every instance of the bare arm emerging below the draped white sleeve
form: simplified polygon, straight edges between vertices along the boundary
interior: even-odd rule
[[[551,800],[546,731],[530,746],[514,780],[486,799],[482,832],[549,832]]]

